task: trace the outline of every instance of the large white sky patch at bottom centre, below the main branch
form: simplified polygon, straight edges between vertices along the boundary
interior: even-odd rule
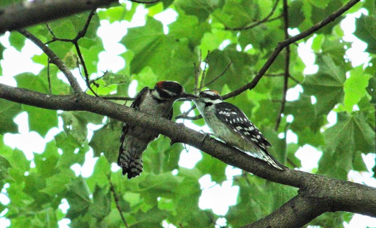
[[[223,181],[222,186],[204,188],[199,199],[199,207],[203,210],[212,209],[213,213],[225,215],[229,206],[235,205],[239,186],[232,186],[232,180]]]

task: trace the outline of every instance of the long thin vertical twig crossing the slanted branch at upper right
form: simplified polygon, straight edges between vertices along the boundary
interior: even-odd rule
[[[288,6],[287,0],[283,0],[283,15],[284,15],[284,32],[285,32],[285,40],[288,39]],[[283,93],[282,93],[282,103],[279,110],[279,114],[277,116],[276,127],[274,130],[277,131],[279,128],[279,124],[281,122],[282,113],[285,110],[286,104],[286,94],[288,88],[288,78],[290,77],[290,45],[286,46],[285,49],[285,77],[284,77],[284,86],[283,86]]]

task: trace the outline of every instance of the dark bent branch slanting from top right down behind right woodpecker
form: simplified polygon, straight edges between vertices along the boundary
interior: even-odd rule
[[[269,69],[269,67],[274,62],[274,60],[277,58],[278,54],[282,51],[282,49],[284,49],[285,47],[287,47],[290,44],[293,44],[296,41],[299,41],[299,40],[311,35],[312,33],[316,32],[317,30],[321,29],[322,27],[326,26],[327,24],[331,23],[337,17],[341,16],[344,12],[346,12],[348,9],[353,7],[358,2],[360,2],[360,0],[351,0],[346,5],[342,6],[340,9],[338,9],[337,11],[333,12],[331,15],[326,17],[324,20],[320,21],[319,23],[315,24],[314,26],[310,27],[309,29],[305,30],[304,32],[299,33],[298,35],[293,36],[291,38],[288,38],[288,39],[286,39],[282,42],[279,42],[276,49],[274,49],[273,53],[271,53],[269,59],[266,61],[264,66],[262,66],[262,68],[260,69],[260,71],[258,72],[256,77],[250,83],[247,83],[246,85],[240,87],[239,89],[234,90],[234,91],[232,91],[232,92],[230,92],[226,95],[223,95],[222,98],[228,99],[230,97],[235,97],[235,96],[241,94],[242,92],[246,91],[247,89],[255,88],[255,86],[257,85],[257,83],[261,79],[261,77]]]

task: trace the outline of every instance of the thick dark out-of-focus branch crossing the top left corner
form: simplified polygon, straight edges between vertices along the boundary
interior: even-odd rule
[[[17,2],[0,9],[0,34],[118,3],[118,0]]]

